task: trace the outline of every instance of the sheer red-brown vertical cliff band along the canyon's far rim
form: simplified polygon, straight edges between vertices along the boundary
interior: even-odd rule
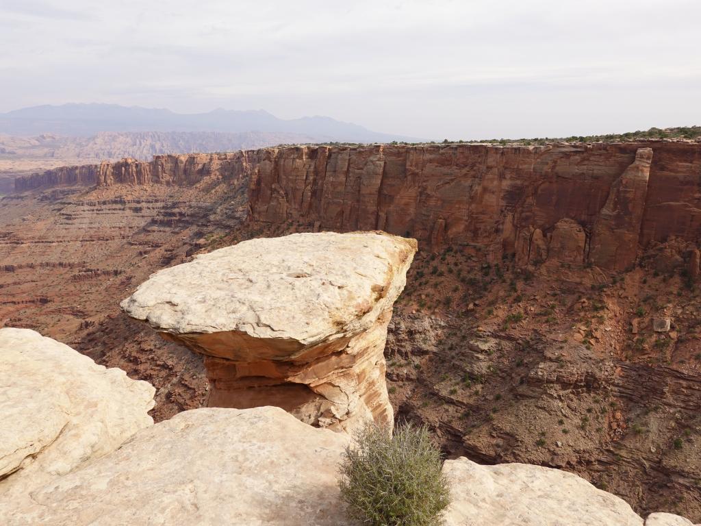
[[[622,270],[639,248],[701,239],[701,144],[284,147],[48,170],[43,185],[195,184],[248,177],[250,220],[380,229],[486,261],[551,259]]]

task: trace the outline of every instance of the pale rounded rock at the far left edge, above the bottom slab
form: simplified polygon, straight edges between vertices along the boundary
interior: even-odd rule
[[[0,496],[25,494],[150,424],[154,388],[27,329],[0,329]]]

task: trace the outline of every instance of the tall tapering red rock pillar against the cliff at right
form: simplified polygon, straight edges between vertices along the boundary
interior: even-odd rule
[[[611,185],[606,204],[594,221],[593,264],[622,271],[635,262],[652,159],[651,148],[639,148],[635,161]]]

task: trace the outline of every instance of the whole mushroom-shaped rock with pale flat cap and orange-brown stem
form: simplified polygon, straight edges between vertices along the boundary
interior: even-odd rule
[[[390,424],[383,351],[415,252],[381,232],[253,239],[156,272],[121,307],[205,356],[209,407]]]

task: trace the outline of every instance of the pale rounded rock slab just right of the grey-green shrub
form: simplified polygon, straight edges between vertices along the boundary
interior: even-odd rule
[[[643,526],[625,501],[583,478],[529,464],[480,466],[447,460],[451,482],[448,525]]]

